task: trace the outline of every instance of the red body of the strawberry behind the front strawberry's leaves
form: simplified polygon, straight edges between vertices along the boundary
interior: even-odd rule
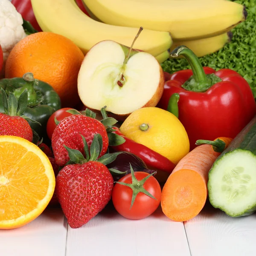
[[[59,166],[64,166],[70,159],[64,145],[77,149],[84,154],[84,143],[80,134],[84,136],[89,149],[94,134],[101,134],[102,151],[99,157],[107,152],[108,134],[105,126],[100,121],[79,114],[67,116],[57,125],[52,134],[52,150],[55,161]]]

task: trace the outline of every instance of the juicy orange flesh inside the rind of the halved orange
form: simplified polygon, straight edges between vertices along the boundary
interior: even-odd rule
[[[1,222],[15,221],[38,207],[49,187],[45,171],[32,151],[18,143],[0,142],[0,227]]]

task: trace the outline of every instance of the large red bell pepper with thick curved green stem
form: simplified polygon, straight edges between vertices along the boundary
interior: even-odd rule
[[[197,56],[185,46],[171,52],[172,57],[180,55],[192,70],[172,74],[157,107],[167,110],[168,105],[169,109],[173,108],[172,100],[177,103],[178,118],[188,134],[190,150],[200,139],[235,138],[256,114],[249,84],[233,70],[203,68]],[[178,102],[177,97],[171,98],[174,93],[179,94]]]

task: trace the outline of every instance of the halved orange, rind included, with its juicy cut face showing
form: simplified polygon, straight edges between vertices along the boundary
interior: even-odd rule
[[[21,227],[49,204],[55,175],[44,152],[16,136],[0,136],[0,229]]]

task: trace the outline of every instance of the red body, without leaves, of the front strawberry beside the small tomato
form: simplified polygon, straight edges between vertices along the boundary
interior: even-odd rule
[[[113,177],[99,162],[67,165],[59,172],[55,188],[68,224],[78,228],[111,200]]]

